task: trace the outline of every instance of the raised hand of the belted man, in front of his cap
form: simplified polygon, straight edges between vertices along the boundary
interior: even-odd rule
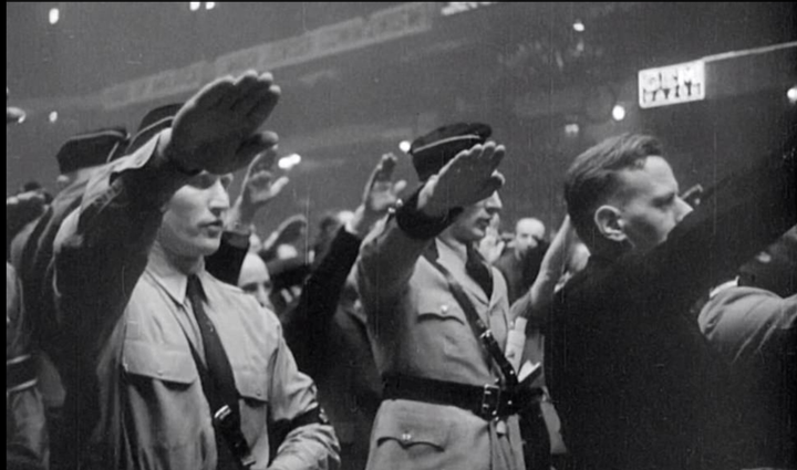
[[[504,177],[496,169],[505,152],[503,145],[493,142],[460,152],[424,185],[418,209],[427,216],[442,217],[451,209],[488,198],[504,186]]]

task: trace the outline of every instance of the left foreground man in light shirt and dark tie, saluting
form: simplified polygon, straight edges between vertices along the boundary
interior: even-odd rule
[[[90,184],[55,241],[70,460],[86,469],[334,468],[275,315],[216,280],[230,171],[272,147],[270,74],[206,86]],[[281,442],[281,445],[277,445]]]

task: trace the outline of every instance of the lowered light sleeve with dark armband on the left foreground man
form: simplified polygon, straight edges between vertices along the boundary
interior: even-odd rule
[[[279,347],[272,357],[271,389],[269,390],[271,430],[283,428],[288,432],[281,442],[272,442],[276,457],[271,470],[332,470],[340,467],[340,443],[334,429],[317,419],[320,408],[315,385],[299,372],[293,355],[279,334]],[[322,422],[323,421],[323,422]]]

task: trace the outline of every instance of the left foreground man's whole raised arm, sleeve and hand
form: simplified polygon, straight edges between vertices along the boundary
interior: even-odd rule
[[[203,170],[232,171],[273,146],[276,135],[258,127],[278,98],[270,74],[217,80],[183,106],[172,129],[90,182],[55,242],[55,290],[69,332],[104,341],[146,265],[172,195]]]

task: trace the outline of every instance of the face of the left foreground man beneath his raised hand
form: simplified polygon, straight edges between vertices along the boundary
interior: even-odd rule
[[[205,171],[172,196],[158,231],[158,241],[169,254],[200,258],[218,250],[231,181],[231,175]]]

